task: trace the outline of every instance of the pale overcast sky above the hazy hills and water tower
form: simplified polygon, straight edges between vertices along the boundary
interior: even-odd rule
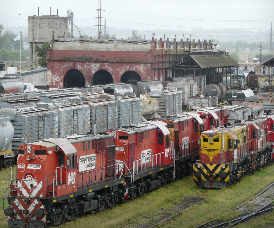
[[[59,16],[67,16],[68,9],[74,12],[74,23],[80,28],[97,25],[95,17],[98,16],[98,1],[95,0],[2,0],[0,24],[3,24],[4,30],[10,29],[14,33],[23,31],[23,35],[26,35],[28,16],[38,16],[38,7],[39,16],[49,15],[50,6],[51,14],[56,14],[58,9]],[[102,17],[105,18],[103,25],[106,20],[107,27],[135,29],[139,34],[142,30],[189,31],[195,28],[246,29],[256,32],[269,30],[270,22],[274,22],[273,0],[102,0],[101,9],[105,10],[102,11]],[[261,40],[260,37],[258,39]]]

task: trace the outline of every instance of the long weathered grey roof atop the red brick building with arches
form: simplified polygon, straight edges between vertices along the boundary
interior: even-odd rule
[[[74,43],[54,42],[53,50],[85,50],[85,51],[149,51],[151,45],[127,43]]]

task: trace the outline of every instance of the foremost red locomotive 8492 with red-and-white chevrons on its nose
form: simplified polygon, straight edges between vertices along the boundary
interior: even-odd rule
[[[16,169],[4,211],[9,227],[59,225],[116,206],[124,191],[111,133],[20,145]]]

